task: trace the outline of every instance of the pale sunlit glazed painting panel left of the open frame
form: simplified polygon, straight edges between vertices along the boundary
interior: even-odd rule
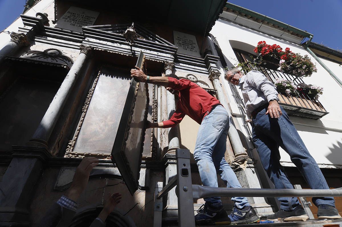
[[[101,70],[72,153],[110,156],[130,86],[129,75],[129,70]]]

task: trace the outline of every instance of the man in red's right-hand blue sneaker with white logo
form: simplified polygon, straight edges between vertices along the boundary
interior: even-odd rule
[[[260,220],[260,217],[254,211],[252,206],[239,209],[234,205],[232,213],[229,214],[228,217],[231,219],[232,225],[250,224]]]

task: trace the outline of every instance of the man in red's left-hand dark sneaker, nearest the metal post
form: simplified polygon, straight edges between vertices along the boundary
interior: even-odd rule
[[[196,225],[229,225],[231,220],[229,219],[223,206],[219,208],[211,208],[203,204],[198,209],[195,215]]]

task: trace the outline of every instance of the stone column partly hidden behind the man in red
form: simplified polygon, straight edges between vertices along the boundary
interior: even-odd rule
[[[174,68],[174,62],[165,61],[165,74],[171,74]],[[168,117],[170,118],[172,114],[176,111],[176,102],[174,95],[167,91],[167,108],[168,108]],[[176,148],[179,148],[179,138],[178,138],[178,130],[177,127],[173,127],[169,129],[169,149],[168,153],[174,153]]]

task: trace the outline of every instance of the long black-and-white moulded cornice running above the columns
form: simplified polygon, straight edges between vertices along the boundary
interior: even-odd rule
[[[60,28],[43,26],[41,19],[21,15],[24,28],[21,32],[35,31],[35,41],[78,49],[80,44],[94,47],[94,49],[114,52],[128,56],[138,56],[143,51],[146,58],[158,61],[174,61],[175,67],[207,74],[211,68],[217,68],[216,56],[206,55],[206,58],[197,58],[177,53],[177,47],[150,40],[137,39],[132,46],[123,38],[122,34],[95,29],[92,26],[83,27],[83,33],[68,31]],[[101,27],[101,26],[100,26]],[[34,28],[34,29],[32,29]],[[38,35],[38,36],[37,36]],[[67,41],[67,42],[65,42]],[[216,62],[215,62],[216,61]]]

